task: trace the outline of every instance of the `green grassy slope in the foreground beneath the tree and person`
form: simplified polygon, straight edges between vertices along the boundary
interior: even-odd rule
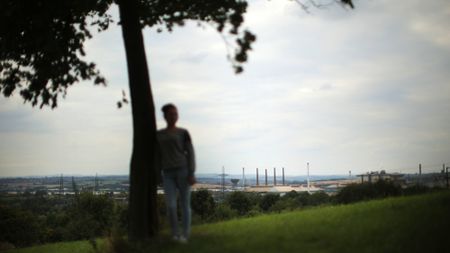
[[[186,245],[167,238],[138,252],[450,252],[450,192],[195,226]],[[94,251],[88,242],[73,242],[8,252]]]

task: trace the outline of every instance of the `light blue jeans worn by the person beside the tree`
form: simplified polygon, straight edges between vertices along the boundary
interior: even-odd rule
[[[172,236],[179,236],[177,215],[177,189],[180,194],[182,236],[189,238],[191,232],[191,186],[186,167],[163,170],[164,196]]]

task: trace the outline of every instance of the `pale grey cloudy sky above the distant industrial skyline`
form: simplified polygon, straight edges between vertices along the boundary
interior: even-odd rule
[[[295,1],[250,1],[243,26],[257,41],[240,75],[209,24],[145,29],[158,128],[161,106],[175,103],[197,173],[450,166],[450,2],[354,4],[307,13]],[[116,106],[128,94],[120,27],[85,49],[106,87],[76,84],[54,110],[0,97],[0,177],[129,173],[131,108]]]

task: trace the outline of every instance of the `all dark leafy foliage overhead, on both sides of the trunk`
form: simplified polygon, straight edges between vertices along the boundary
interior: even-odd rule
[[[106,84],[95,63],[83,59],[84,42],[92,37],[92,29],[104,31],[115,23],[107,13],[112,3],[0,1],[0,92],[9,97],[19,91],[33,106],[54,108],[58,97],[64,97],[74,83],[93,80]],[[256,40],[251,32],[240,31],[245,1],[141,0],[139,5],[142,27],[164,26],[172,31],[187,20],[214,24],[221,33],[228,27],[226,32],[236,38],[230,60],[237,73],[242,71]]]

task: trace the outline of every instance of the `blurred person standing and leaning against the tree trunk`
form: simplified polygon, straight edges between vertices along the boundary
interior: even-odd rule
[[[159,160],[172,238],[187,242],[191,229],[191,186],[195,184],[195,156],[189,132],[176,126],[174,104],[162,107],[167,127],[157,133]],[[182,231],[178,231],[177,192],[180,196]]]

